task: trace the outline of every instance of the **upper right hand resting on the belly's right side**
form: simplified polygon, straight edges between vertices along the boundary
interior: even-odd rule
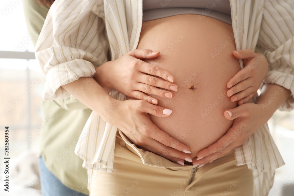
[[[268,71],[268,61],[265,56],[250,49],[233,51],[233,55],[243,59],[245,67],[227,83],[230,88],[227,95],[231,97],[232,102],[238,101],[241,105],[256,95]]]

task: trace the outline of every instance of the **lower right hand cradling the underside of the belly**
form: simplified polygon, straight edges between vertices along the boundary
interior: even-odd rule
[[[216,160],[242,145],[255,130],[271,117],[263,109],[262,104],[256,103],[244,103],[236,108],[226,110],[224,115],[226,119],[234,120],[232,127],[216,143],[199,151],[198,160],[195,158],[193,165],[203,166],[203,164]]]

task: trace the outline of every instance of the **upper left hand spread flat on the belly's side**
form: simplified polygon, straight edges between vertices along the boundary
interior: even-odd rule
[[[174,78],[168,71],[142,61],[143,58],[156,58],[159,52],[148,49],[134,49],[114,61],[108,61],[96,69],[94,79],[106,90],[116,89],[126,96],[157,104],[151,95],[172,98],[173,93],[160,88],[177,91]],[[158,76],[158,77],[154,77]],[[159,88],[156,88],[159,87]]]

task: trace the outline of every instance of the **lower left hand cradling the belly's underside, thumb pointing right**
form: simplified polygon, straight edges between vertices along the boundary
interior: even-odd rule
[[[192,162],[191,155],[189,155],[190,149],[160,130],[150,120],[149,114],[166,118],[172,113],[172,110],[144,100],[115,101],[115,108],[104,118],[107,122],[116,125],[135,145],[179,165],[184,164],[184,159]]]

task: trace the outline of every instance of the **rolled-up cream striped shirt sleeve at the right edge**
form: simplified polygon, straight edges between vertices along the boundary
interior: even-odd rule
[[[267,1],[263,10],[258,47],[269,64],[264,83],[277,84],[291,91],[280,110],[294,108],[294,2]]]

